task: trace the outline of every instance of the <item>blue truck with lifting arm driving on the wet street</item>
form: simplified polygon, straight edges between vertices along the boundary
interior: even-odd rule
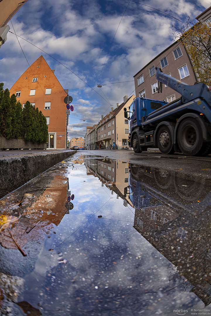
[[[187,156],[211,153],[211,90],[200,82],[188,85],[156,68],[159,82],[181,97],[166,103],[136,98],[129,107],[129,146],[135,153],[159,148],[162,154],[182,152]]]

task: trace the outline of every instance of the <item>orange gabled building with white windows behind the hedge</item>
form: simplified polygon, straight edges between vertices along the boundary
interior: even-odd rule
[[[47,149],[67,149],[64,98],[68,90],[62,88],[43,56],[35,60],[9,91],[10,95],[16,95],[23,107],[28,100],[45,115],[48,125]]]

